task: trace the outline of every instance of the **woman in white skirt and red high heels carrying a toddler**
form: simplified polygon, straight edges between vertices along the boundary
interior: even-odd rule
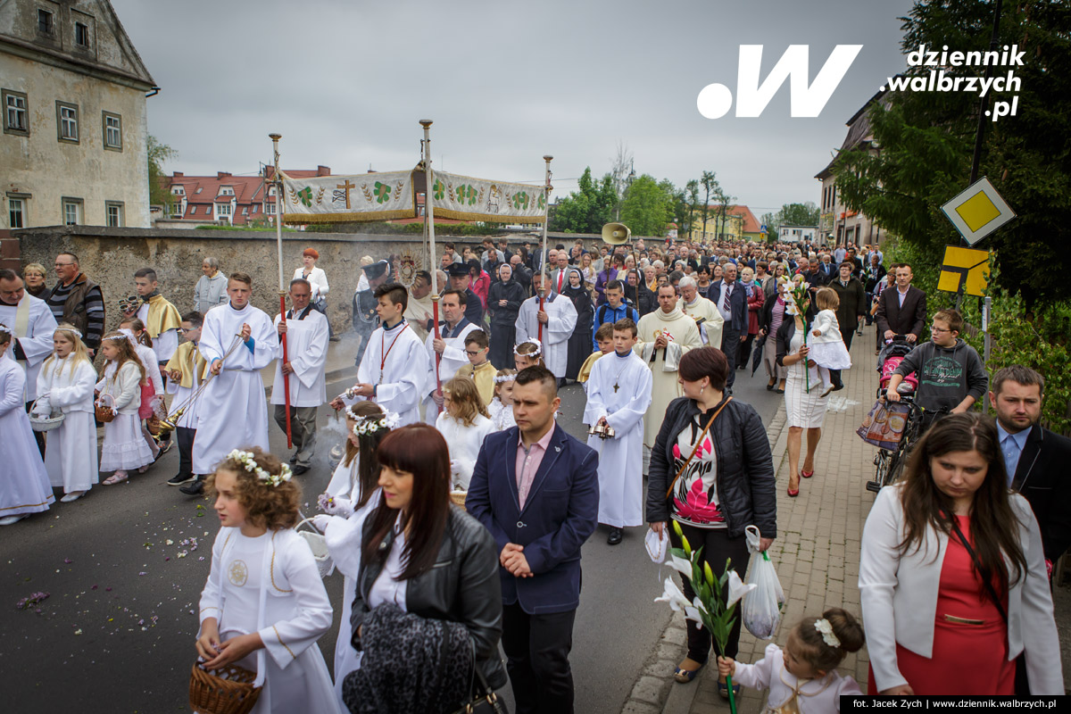
[[[806,307],[804,306],[804,310]],[[785,379],[785,411],[788,417],[788,496],[800,493],[800,476],[814,475],[814,453],[821,439],[821,425],[826,420],[829,396],[820,388],[820,378],[814,362],[808,358],[805,322],[796,305],[789,301],[793,319],[785,319],[778,330],[779,365],[788,368]],[[806,429],[806,456],[800,470],[800,446]]]

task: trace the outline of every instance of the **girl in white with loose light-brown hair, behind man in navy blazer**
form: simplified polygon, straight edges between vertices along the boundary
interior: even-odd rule
[[[442,385],[443,411],[435,428],[450,444],[450,476],[453,488],[468,490],[483,440],[494,430],[476,382],[454,377]]]

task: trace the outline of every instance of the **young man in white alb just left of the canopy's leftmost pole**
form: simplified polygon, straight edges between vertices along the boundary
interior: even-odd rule
[[[275,359],[278,335],[271,318],[250,304],[252,277],[231,273],[227,295],[230,301],[210,309],[201,328],[200,353],[216,377],[199,397],[194,473],[212,473],[236,446],[268,449],[268,405],[260,370]]]

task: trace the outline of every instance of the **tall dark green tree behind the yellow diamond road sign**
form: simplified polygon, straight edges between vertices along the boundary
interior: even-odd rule
[[[989,50],[993,3],[983,0],[917,0],[903,20],[904,51],[948,45]],[[1021,80],[993,102],[1017,96],[1014,117],[985,121],[979,176],[993,182],[1019,217],[979,247],[995,252],[994,282],[1021,293],[1026,309],[1067,298],[1071,270],[1071,13],[1067,3],[1004,1],[998,46],[1017,45]],[[910,67],[908,77],[929,77]],[[1004,75],[1000,67],[995,76]],[[976,76],[978,66],[947,67],[948,76]],[[846,206],[861,210],[901,240],[938,261],[944,246],[961,244],[940,206],[970,177],[979,97],[968,92],[900,91],[869,110],[874,145],[838,157],[836,185]],[[1043,270],[1039,270],[1043,265]]]

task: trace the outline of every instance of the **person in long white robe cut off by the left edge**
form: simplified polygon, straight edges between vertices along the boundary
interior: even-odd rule
[[[0,526],[48,511],[56,500],[26,416],[26,374],[9,356],[11,346],[11,328],[0,322],[0,464],[4,473],[0,478]]]

